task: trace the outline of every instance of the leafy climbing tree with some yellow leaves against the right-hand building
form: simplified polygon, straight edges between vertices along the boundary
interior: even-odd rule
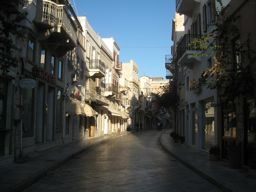
[[[202,72],[204,85],[210,89],[217,89],[223,103],[234,102],[240,95],[251,95],[256,99],[255,74],[252,67],[255,66],[256,54],[251,49],[250,34],[244,42],[232,44],[231,38],[240,35],[236,26],[238,16],[228,16],[226,11],[229,6],[223,6],[221,0],[220,10],[216,10],[216,19],[213,21],[212,32],[201,39],[195,39],[190,43],[190,48],[202,50],[194,56],[215,55],[215,64]],[[214,38],[216,44],[209,43]],[[210,52],[206,52],[210,45]]]

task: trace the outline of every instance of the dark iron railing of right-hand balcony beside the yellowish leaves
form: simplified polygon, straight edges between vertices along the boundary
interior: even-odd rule
[[[181,58],[186,50],[199,50],[189,48],[189,44],[192,42],[193,39],[200,38],[202,38],[202,35],[185,34],[177,46],[177,60]]]

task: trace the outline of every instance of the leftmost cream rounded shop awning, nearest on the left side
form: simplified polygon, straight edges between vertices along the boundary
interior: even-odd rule
[[[82,103],[72,98],[66,100],[66,113],[69,115],[85,115]]]

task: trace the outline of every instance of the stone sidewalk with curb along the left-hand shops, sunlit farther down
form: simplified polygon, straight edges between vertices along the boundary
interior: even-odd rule
[[[126,132],[125,134],[129,134]],[[125,135],[121,133],[121,135]],[[23,162],[13,163],[0,170],[0,192],[22,191],[34,182],[51,174],[75,156],[108,140],[120,137],[120,134],[107,134],[102,137],[83,140],[64,145],[54,151],[38,155],[30,154]]]

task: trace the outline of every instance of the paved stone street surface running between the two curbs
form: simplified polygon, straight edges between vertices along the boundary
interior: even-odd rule
[[[118,137],[76,156],[24,192],[217,192],[204,178],[167,154],[163,132]]]

